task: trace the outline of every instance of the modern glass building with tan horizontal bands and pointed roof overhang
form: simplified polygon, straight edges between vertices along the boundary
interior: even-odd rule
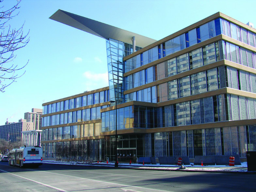
[[[106,39],[109,87],[43,104],[44,159],[115,160],[116,129],[119,161],[256,150],[256,29],[218,12],[156,41],[50,18]]]

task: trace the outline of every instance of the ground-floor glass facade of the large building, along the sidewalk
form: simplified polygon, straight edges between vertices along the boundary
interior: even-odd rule
[[[118,158],[143,156],[194,158],[197,155],[246,157],[246,151],[256,150],[255,132],[256,125],[247,125],[130,136],[120,135],[118,136]],[[107,137],[105,140],[44,143],[42,145],[43,156],[63,161],[82,162],[112,159],[115,156],[114,150],[112,148],[104,150],[104,148],[114,145],[114,140],[114,137]]]

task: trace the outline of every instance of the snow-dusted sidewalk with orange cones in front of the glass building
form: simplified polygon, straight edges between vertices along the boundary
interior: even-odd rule
[[[114,162],[100,162],[100,163],[78,163],[78,162],[57,162],[57,161],[43,161],[43,163],[51,164],[65,164],[65,165],[79,165],[79,166],[92,166],[92,167],[114,167]],[[137,164],[137,163],[119,163],[119,168],[132,168],[132,169],[147,169],[147,170],[164,170],[164,171],[187,171],[187,172],[218,172],[218,173],[256,173],[256,171],[247,170],[247,162],[243,162],[242,165],[237,166],[225,166],[225,165],[214,165],[214,166],[194,166],[184,165],[185,169],[179,169],[177,165],[149,165],[149,164]]]

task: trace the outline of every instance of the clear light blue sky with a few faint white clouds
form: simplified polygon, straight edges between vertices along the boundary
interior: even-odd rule
[[[4,0],[8,7],[16,0]],[[256,1],[22,0],[13,28],[24,22],[30,41],[16,52],[25,67],[17,82],[0,92],[0,125],[17,122],[42,103],[108,86],[105,40],[50,20],[58,9],[160,40],[218,11],[256,27]]]

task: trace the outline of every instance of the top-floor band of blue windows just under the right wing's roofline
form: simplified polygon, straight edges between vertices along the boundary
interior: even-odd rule
[[[223,34],[225,36],[231,37],[232,39],[241,41],[250,46],[256,47],[256,34],[243,28],[238,25],[232,24],[224,19],[218,18],[214,21],[210,21],[206,24],[200,25],[198,28],[192,29],[178,37],[175,37],[171,40],[168,40],[160,46],[162,48],[162,52],[165,52],[162,56],[168,56],[177,51],[183,50],[187,47],[195,45],[196,43],[200,43],[201,41],[208,40],[217,35]],[[134,56],[124,62],[125,72],[129,72],[133,69],[140,67],[141,65],[146,65],[151,63],[152,59],[148,59],[149,53],[153,53],[153,49],[149,49],[140,56]],[[211,49],[211,47],[208,47]],[[160,51],[161,52],[161,51]],[[210,51],[211,52],[211,51]],[[136,65],[137,59],[143,58],[141,65]],[[156,58],[156,57],[152,57]],[[156,59],[155,59],[156,60]],[[208,57],[208,61],[211,62],[211,56]]]

